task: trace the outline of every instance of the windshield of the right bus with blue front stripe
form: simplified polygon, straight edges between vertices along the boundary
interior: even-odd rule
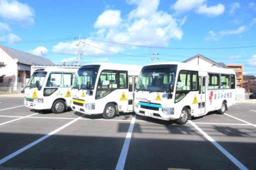
[[[177,65],[144,66],[136,86],[137,90],[151,92],[172,92],[169,86],[174,86]]]

